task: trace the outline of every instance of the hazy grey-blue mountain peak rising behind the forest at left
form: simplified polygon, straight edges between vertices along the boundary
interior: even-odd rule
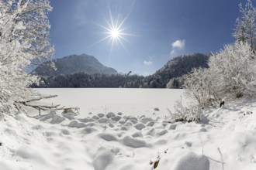
[[[50,69],[51,62],[54,63],[56,70]],[[81,72],[87,74],[117,74],[116,70],[104,66],[94,56],[86,54],[65,56],[61,59],[47,61],[38,66],[32,73],[40,76],[57,76]]]

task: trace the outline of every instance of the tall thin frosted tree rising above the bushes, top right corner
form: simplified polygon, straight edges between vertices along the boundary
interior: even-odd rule
[[[247,0],[245,6],[239,5],[240,18],[236,20],[237,25],[234,29],[233,36],[238,42],[247,42],[251,49],[256,48],[256,9],[252,5],[251,0]]]

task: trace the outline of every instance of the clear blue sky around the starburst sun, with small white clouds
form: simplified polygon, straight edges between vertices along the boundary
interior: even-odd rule
[[[86,53],[121,73],[148,75],[175,56],[218,52],[234,42],[240,2],[247,1],[51,0],[54,58]],[[122,43],[112,44],[111,37],[99,42],[109,36],[111,18],[123,22]]]

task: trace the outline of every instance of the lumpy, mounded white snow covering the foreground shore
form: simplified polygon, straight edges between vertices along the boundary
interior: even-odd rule
[[[157,103],[158,98],[155,100]],[[149,110],[151,107],[149,104]],[[95,111],[74,118],[71,113],[54,111],[36,117],[5,115],[0,124],[0,167],[256,169],[255,110],[253,100],[226,104],[205,110],[202,124],[171,124],[159,118],[156,110],[146,115],[134,110],[137,115],[132,116],[111,110],[106,114]]]

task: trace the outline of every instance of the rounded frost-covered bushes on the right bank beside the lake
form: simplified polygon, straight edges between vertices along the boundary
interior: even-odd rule
[[[224,46],[209,57],[208,69],[195,69],[185,77],[185,89],[201,107],[216,105],[223,98],[256,94],[256,56],[247,42]]]

